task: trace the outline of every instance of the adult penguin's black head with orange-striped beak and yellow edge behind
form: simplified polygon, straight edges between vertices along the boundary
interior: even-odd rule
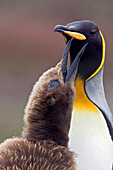
[[[76,21],[66,26],[57,25],[55,32],[64,35],[66,43],[74,37],[70,48],[71,62],[76,57],[80,48],[87,42],[85,50],[78,67],[78,75],[88,80],[95,72],[98,72],[104,63],[104,39],[97,25],[88,20]]]

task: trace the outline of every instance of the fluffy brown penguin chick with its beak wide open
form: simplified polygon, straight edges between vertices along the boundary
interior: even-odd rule
[[[74,170],[74,154],[69,151],[68,133],[75,97],[74,77],[84,46],[67,72],[67,58],[45,72],[35,84],[25,110],[22,138],[0,145],[0,169]]]

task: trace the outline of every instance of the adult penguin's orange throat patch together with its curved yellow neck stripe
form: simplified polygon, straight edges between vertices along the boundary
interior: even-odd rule
[[[98,69],[86,80],[86,82],[92,77],[94,77],[100,71],[105,61],[105,41],[101,32],[100,35],[102,38],[102,60]],[[75,81],[76,95],[75,95],[75,102],[73,108],[74,113],[76,113],[77,111],[79,112],[82,111],[82,113],[95,112],[98,114],[100,113],[99,109],[88,99],[85,93],[84,85],[86,82],[84,82],[81,77],[77,77]]]

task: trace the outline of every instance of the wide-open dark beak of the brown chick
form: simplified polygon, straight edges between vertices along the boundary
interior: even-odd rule
[[[74,76],[74,73],[77,69],[77,66],[78,66],[78,63],[80,61],[80,58],[82,57],[88,43],[86,43],[82,48],[81,50],[79,51],[79,53],[77,54],[77,56],[75,57],[74,61],[72,62],[69,70],[67,71],[67,60],[68,60],[68,53],[69,53],[69,50],[70,50],[70,46],[71,46],[71,43],[73,41],[74,38],[71,38],[67,45],[66,45],[66,48],[64,50],[64,55],[63,55],[63,62],[62,62],[62,75],[63,75],[63,80],[64,80],[64,83],[66,82],[69,82],[72,77]]]

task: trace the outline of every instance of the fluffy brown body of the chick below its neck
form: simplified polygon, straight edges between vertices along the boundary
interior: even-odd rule
[[[0,169],[59,170],[75,169],[74,154],[50,140],[32,143],[27,139],[6,140],[0,148]]]

